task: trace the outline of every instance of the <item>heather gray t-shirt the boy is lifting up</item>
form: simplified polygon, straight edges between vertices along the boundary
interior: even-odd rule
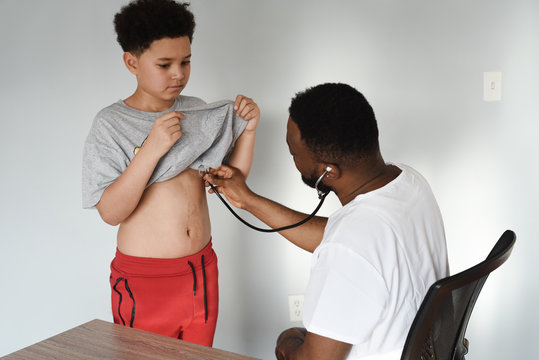
[[[247,125],[233,105],[230,100],[206,104],[180,95],[170,109],[159,113],[131,108],[121,100],[101,110],[84,144],[82,207],[95,207],[105,189],[125,171],[154,121],[170,111],[185,115],[180,122],[182,137],[161,158],[147,186],[169,180],[187,168],[207,170],[221,165]]]

